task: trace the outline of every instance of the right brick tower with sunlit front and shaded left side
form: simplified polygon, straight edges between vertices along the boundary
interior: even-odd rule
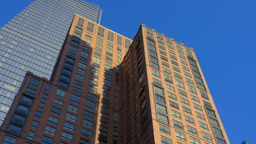
[[[120,143],[229,143],[191,47],[141,25],[121,81]]]

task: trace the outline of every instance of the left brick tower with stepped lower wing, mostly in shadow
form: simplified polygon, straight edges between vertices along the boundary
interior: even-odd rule
[[[75,15],[50,81],[27,73],[0,141],[118,143],[118,65],[131,41]]]

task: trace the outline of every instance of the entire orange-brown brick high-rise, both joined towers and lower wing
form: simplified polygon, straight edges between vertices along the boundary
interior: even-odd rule
[[[194,50],[144,25],[132,40],[79,15],[51,80],[28,72],[2,143],[229,143]]]

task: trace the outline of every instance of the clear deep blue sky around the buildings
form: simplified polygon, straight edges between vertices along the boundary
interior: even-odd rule
[[[0,2],[0,27],[32,0]],[[133,39],[141,23],[193,47],[230,143],[256,143],[256,1],[129,0],[101,5],[101,25]]]

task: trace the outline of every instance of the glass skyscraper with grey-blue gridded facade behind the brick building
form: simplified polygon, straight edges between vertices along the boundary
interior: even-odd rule
[[[100,23],[99,5],[36,0],[0,29],[0,125],[27,71],[50,79],[74,14]]]

